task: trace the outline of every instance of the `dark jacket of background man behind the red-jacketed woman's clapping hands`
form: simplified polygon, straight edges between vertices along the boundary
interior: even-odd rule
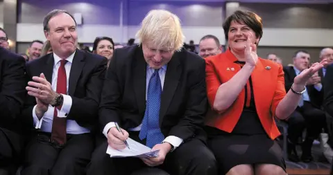
[[[284,71],[284,86],[286,88],[286,92],[291,89],[291,85],[293,84],[293,79],[296,77],[296,72],[293,69],[293,66],[285,66],[283,68]],[[317,109],[321,109],[321,104],[323,103],[323,88],[321,91],[317,91],[314,88],[314,85],[307,86],[307,93],[309,94],[311,104]]]

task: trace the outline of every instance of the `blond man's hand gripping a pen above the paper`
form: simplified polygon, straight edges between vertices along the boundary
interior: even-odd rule
[[[108,131],[108,145],[113,149],[125,149],[128,147],[127,139],[128,132],[124,129],[121,129],[117,122],[114,123],[115,127],[111,127]],[[130,149],[130,147],[128,147]]]

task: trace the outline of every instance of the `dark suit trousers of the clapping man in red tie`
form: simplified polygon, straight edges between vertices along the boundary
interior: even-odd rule
[[[37,133],[26,149],[22,175],[83,175],[94,150],[90,133],[67,134],[63,147],[49,142],[50,133]]]

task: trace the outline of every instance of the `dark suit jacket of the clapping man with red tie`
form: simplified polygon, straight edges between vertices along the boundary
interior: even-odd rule
[[[33,76],[44,73],[46,80],[51,84],[53,65],[53,53],[28,62],[26,64],[27,81],[31,81]],[[81,127],[94,129],[98,122],[99,102],[106,67],[105,57],[76,49],[69,75],[68,95],[71,96],[72,104],[67,120],[75,120]],[[35,104],[35,98],[28,95],[22,111],[22,120],[30,129],[33,129]]]

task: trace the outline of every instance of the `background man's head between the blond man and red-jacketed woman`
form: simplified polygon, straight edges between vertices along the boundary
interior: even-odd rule
[[[200,57],[209,57],[218,55],[222,52],[220,41],[214,35],[205,35],[199,42],[199,55]]]

